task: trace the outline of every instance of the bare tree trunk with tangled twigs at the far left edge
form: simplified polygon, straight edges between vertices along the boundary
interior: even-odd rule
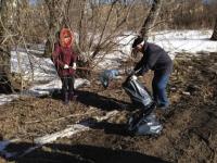
[[[24,23],[21,15],[23,7],[27,5],[27,0],[1,0],[0,5],[0,85],[3,92],[22,90],[23,74],[21,66],[21,55],[16,51],[23,41],[22,28]],[[17,59],[16,72],[11,72],[11,51],[14,51]]]

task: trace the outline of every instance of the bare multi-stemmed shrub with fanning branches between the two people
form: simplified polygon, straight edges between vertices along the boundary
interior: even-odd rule
[[[97,67],[105,55],[118,51],[117,38],[127,37],[125,32],[135,1],[126,5],[120,0],[107,3],[72,0],[69,15],[71,26],[77,34],[75,47],[85,58],[78,65],[87,67],[86,72]]]

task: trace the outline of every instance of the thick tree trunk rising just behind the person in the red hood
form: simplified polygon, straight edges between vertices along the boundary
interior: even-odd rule
[[[48,39],[46,42],[46,49],[43,57],[51,57],[53,51],[53,45],[56,41],[55,34],[60,32],[60,29],[64,26],[64,22],[66,20],[66,4],[68,0],[44,0],[49,10],[50,18],[49,18],[49,32]],[[64,20],[65,18],[65,20]],[[66,25],[65,25],[66,26]]]

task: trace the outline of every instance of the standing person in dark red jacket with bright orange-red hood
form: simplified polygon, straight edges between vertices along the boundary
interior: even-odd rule
[[[68,28],[62,28],[59,42],[54,45],[52,61],[62,80],[62,97],[65,104],[76,98],[74,83],[77,54],[73,50],[74,35]]]

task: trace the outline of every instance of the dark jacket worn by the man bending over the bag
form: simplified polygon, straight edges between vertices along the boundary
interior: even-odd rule
[[[170,74],[173,71],[173,61],[164,49],[154,43],[146,42],[143,47],[143,57],[135,66],[139,71],[138,75],[143,75],[149,70],[161,74]]]

